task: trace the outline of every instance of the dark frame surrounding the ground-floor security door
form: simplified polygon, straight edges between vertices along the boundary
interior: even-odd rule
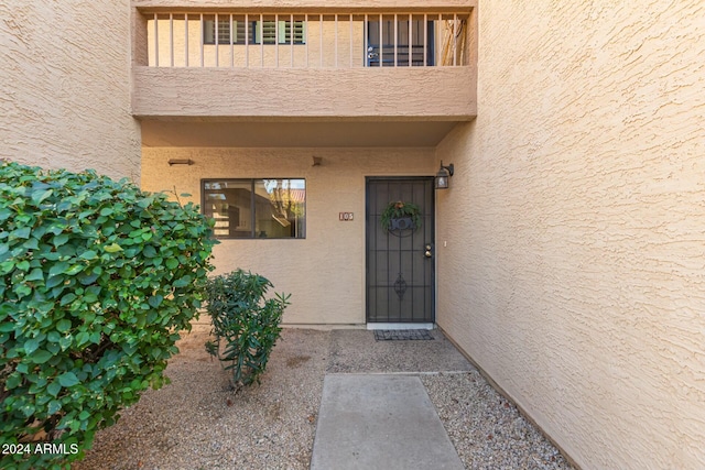
[[[430,321],[425,323],[378,323],[370,321],[370,296],[369,296],[369,280],[370,280],[370,182],[424,182],[431,186],[432,198],[431,208],[425,208],[425,211],[430,210],[431,218],[431,240],[429,241],[433,247],[433,258],[431,260],[431,311]],[[366,176],[365,177],[365,324],[368,329],[400,329],[400,328],[434,328],[436,321],[436,292],[437,292],[437,278],[436,278],[436,228],[435,228],[435,212],[436,195],[434,190],[434,176],[411,175],[411,176]]]

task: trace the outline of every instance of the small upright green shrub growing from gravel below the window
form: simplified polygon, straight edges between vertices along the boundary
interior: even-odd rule
[[[280,324],[291,295],[275,294],[267,299],[269,287],[273,285],[265,277],[242,270],[208,281],[207,311],[216,340],[207,342],[206,350],[228,362],[225,369],[232,370],[235,387],[260,382],[282,331]]]

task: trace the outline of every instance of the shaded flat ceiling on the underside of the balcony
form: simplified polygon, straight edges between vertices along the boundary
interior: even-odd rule
[[[455,121],[180,121],[143,120],[143,146],[429,147]]]

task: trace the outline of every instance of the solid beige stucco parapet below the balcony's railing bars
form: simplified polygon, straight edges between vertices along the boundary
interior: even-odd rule
[[[137,66],[133,77],[133,109],[141,117],[467,120],[475,116],[476,107],[471,67],[410,70]],[[263,87],[263,83],[268,86]]]

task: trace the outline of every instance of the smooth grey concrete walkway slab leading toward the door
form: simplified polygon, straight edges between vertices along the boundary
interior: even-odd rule
[[[463,468],[417,376],[325,376],[312,470]]]

